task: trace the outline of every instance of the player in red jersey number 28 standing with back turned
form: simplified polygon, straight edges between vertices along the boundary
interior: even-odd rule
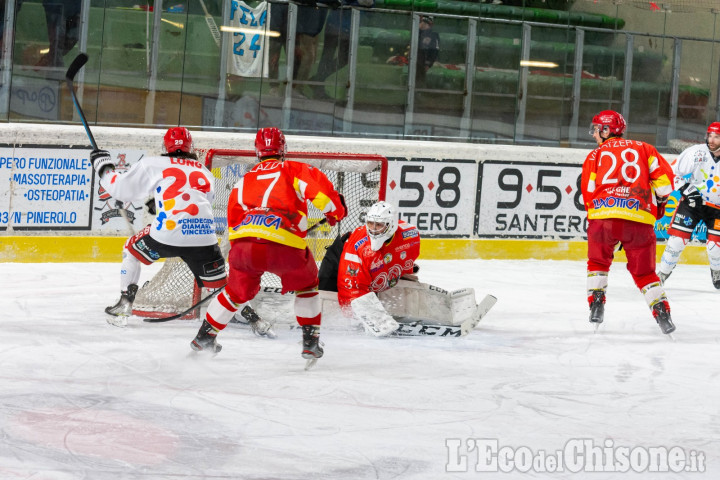
[[[598,144],[585,159],[581,188],[588,216],[587,288],[590,322],[600,324],[615,246],[627,256],[627,269],[663,333],[675,325],[655,274],[654,224],[665,211],[674,175],[655,147],[623,138],[622,115],[605,110],[593,117],[590,134]]]

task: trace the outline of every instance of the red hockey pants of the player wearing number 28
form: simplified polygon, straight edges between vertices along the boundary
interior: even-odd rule
[[[638,288],[660,281],[655,273],[654,227],[620,218],[588,222],[588,272],[609,271],[618,242],[625,250],[627,269]]]

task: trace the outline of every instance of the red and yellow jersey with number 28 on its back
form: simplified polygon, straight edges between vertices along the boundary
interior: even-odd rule
[[[589,220],[623,218],[655,224],[658,197],[673,191],[670,164],[650,144],[609,138],[590,152],[581,189]]]

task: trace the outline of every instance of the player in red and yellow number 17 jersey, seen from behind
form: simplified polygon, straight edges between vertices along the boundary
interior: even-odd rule
[[[285,160],[285,136],[277,128],[258,130],[255,152],[260,162],[238,181],[228,203],[228,285],[208,307],[191,347],[219,352],[218,332],[257,295],[262,274],[271,272],[280,277],[282,293],[295,292],[302,357],[315,360],[323,355],[321,305],[317,264],[305,242],[307,202],[335,225],[346,215],[345,201],[320,170]]]

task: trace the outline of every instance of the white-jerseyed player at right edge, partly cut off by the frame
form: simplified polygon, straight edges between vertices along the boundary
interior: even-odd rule
[[[697,224],[707,226],[707,253],[715,288],[720,289],[720,122],[708,126],[705,143],[686,148],[672,163],[682,197],[668,228],[670,235],[658,276],[664,283],[677,265]]]

